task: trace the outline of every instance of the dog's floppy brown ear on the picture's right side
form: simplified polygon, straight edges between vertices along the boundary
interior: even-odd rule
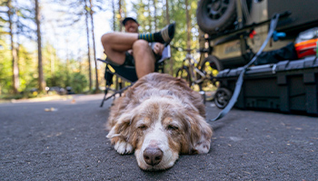
[[[190,122],[191,154],[208,153],[210,150],[213,130],[205,119],[198,114],[188,114]]]

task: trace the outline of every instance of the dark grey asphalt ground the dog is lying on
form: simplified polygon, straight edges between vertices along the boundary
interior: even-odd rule
[[[318,180],[318,118],[231,110],[211,123],[208,154],[144,172],[105,138],[102,97],[0,104],[0,180]]]

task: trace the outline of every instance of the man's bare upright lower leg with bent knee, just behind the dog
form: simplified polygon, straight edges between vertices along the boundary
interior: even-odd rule
[[[136,41],[133,46],[133,52],[134,66],[138,79],[148,73],[154,72],[154,52],[147,41]]]

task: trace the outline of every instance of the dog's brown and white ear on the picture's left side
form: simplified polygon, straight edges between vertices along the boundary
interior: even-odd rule
[[[130,132],[130,124],[134,119],[134,115],[130,113],[124,113],[119,118],[118,121],[114,124],[112,129],[109,131],[106,138],[128,138]]]

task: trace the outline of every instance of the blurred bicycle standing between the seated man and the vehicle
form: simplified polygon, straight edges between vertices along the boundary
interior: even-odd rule
[[[175,77],[182,78],[187,81],[189,87],[193,90],[199,90],[205,100],[214,99],[214,90],[216,90],[215,76],[218,73],[219,67],[215,64],[216,57],[210,55],[203,61],[197,62],[191,52],[196,49],[183,49],[173,47],[177,51],[186,52],[182,67],[176,71]],[[210,52],[209,49],[200,49],[200,53]],[[198,88],[196,88],[198,86]]]

